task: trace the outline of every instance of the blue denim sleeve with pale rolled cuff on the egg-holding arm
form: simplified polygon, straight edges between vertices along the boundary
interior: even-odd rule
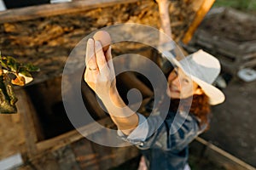
[[[118,131],[119,136],[131,144],[136,144],[141,150],[149,148],[160,148],[177,152],[183,150],[193,139],[195,139],[204,128],[200,128],[195,116],[178,112],[169,119],[162,116],[150,116],[146,119],[141,114],[139,125],[129,136]]]

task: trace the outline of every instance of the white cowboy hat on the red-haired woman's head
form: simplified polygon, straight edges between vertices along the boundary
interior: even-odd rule
[[[191,77],[191,79],[201,87],[204,93],[209,97],[210,105],[218,105],[224,102],[224,94],[218,88],[212,86],[212,82],[215,81],[220,72],[218,59],[203,50],[190,54],[179,61],[168,51],[164,51],[163,55],[169,59],[173,65],[177,65],[182,69],[187,76]]]

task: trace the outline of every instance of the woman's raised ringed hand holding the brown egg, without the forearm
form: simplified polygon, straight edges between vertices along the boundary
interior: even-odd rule
[[[87,42],[85,63],[84,81],[100,99],[109,99],[109,93],[116,92],[111,47],[104,53],[101,42],[90,38]]]

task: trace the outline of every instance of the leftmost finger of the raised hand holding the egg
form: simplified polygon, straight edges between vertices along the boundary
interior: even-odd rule
[[[93,70],[98,69],[98,65],[96,63],[94,40],[91,38],[87,42],[85,64],[87,68]]]

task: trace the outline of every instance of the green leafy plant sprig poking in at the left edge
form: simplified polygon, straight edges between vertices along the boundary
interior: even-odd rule
[[[11,56],[2,56],[0,52],[0,113],[16,113],[14,87],[24,86],[32,81],[33,71],[39,68],[32,64],[21,64]]]

